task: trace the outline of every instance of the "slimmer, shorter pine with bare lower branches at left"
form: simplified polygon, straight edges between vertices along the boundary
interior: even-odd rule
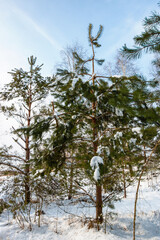
[[[49,78],[43,78],[40,74],[41,67],[36,66],[36,58],[31,56],[28,58],[29,71],[22,68],[14,69],[10,72],[12,81],[6,84],[0,94],[0,98],[6,105],[1,106],[1,110],[8,117],[14,118],[19,126],[13,127],[12,133],[16,136],[14,141],[20,146],[22,156],[12,154],[9,149],[4,148],[1,151],[0,164],[5,164],[11,168],[14,166],[14,160],[21,160],[20,166],[17,167],[18,172],[23,175],[25,203],[29,203],[31,199],[30,192],[30,167],[31,167],[31,150],[32,138],[29,128],[33,119],[38,114],[37,105],[48,94]],[[8,106],[8,103],[11,105]],[[9,160],[9,162],[8,162]]]

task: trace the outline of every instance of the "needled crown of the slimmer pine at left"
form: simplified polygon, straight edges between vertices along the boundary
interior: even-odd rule
[[[1,111],[6,115],[14,117],[18,112],[21,114],[22,109],[26,111],[29,104],[35,104],[48,95],[51,79],[41,76],[40,71],[43,64],[36,66],[36,60],[37,58],[33,56],[28,58],[29,71],[24,71],[20,68],[9,72],[12,76],[12,80],[9,84],[5,84],[0,93],[0,99],[2,101],[14,100],[11,106],[7,105],[1,107]],[[15,104],[16,99],[17,102],[21,102],[24,106],[21,105],[17,109],[17,105]]]

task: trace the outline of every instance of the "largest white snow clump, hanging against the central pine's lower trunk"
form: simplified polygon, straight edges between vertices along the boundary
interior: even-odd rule
[[[103,164],[103,159],[99,156],[94,156],[91,159],[90,166],[94,171],[94,179],[98,181],[100,179],[100,169],[99,164]]]

